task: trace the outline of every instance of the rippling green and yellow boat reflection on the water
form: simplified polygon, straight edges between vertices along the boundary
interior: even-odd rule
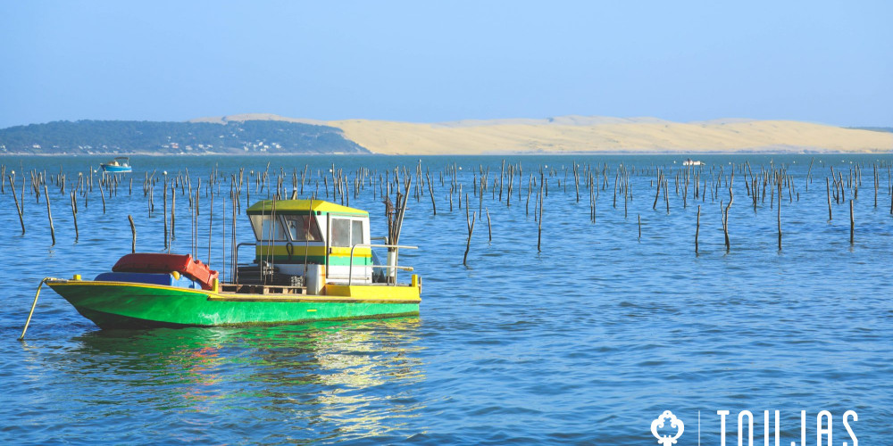
[[[182,441],[232,442],[250,426],[244,438],[264,442],[266,424],[275,442],[387,436],[424,409],[413,397],[425,380],[418,326],[419,318],[406,317],[101,330],[74,340],[79,363],[68,367],[80,392],[127,392],[87,397],[91,416],[130,407]],[[82,370],[95,372],[75,373]],[[196,430],[184,413],[211,425]],[[288,432],[294,437],[282,436]]]

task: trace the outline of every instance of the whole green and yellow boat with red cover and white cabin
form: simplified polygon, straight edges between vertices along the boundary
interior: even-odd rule
[[[132,253],[94,280],[45,279],[102,328],[242,326],[417,315],[421,280],[397,283],[399,249],[371,244],[369,213],[319,200],[264,200],[246,211],[255,257],[230,280],[190,255]],[[401,216],[402,219],[402,216]],[[238,258],[238,247],[232,257]],[[374,248],[388,250],[383,265]],[[38,290],[39,293],[39,290]],[[35,298],[35,302],[37,298]],[[33,311],[33,309],[32,309]],[[26,326],[27,328],[27,326]],[[22,333],[24,336],[24,332]]]

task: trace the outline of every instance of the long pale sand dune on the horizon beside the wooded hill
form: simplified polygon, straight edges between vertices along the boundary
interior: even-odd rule
[[[656,118],[563,116],[545,120],[296,120],[269,114],[205,118],[288,120],[341,128],[374,153],[879,153],[893,133],[787,120],[722,119],[689,123]],[[198,120],[196,120],[198,121]]]

